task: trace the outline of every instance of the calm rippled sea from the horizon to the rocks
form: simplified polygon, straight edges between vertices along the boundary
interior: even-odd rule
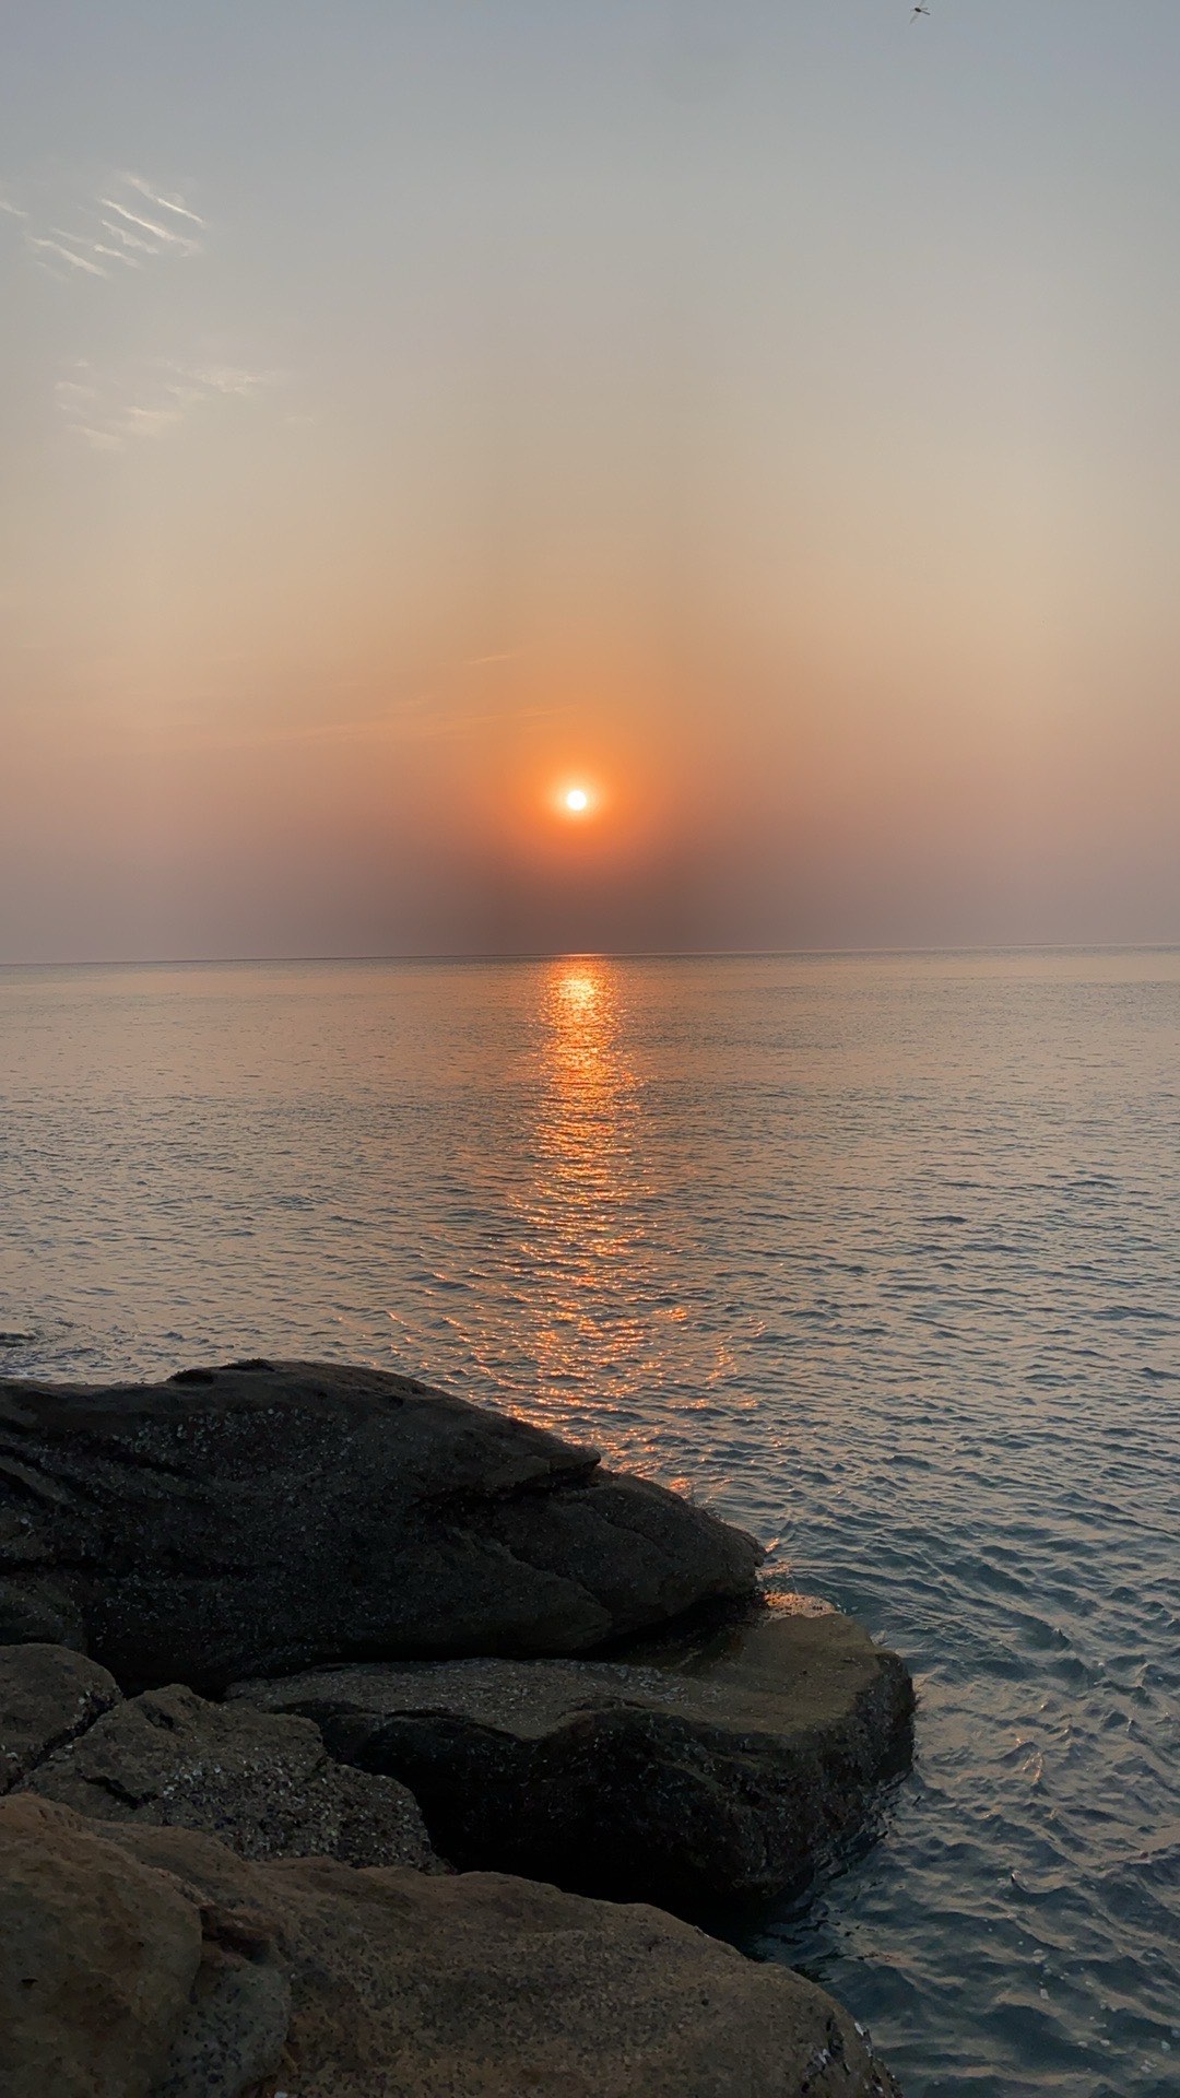
[[[0,971],[0,1362],[426,1372],[897,1645],[758,1939],[907,2098],[1180,2085],[1180,955]]]

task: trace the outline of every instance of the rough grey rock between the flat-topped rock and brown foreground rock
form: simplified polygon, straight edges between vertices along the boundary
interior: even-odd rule
[[[206,1704],[178,1685],[118,1704],[25,1790],[101,1821],[208,1829],[241,1857],[439,1865],[397,1779],[332,1762],[311,1720]]]

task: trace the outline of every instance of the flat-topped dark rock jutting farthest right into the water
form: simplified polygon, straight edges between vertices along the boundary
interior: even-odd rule
[[[909,1676],[850,1618],[768,1611],[663,1660],[328,1668],[231,1697],[399,1777],[464,1869],[689,1913],[806,1880],[909,1760]]]

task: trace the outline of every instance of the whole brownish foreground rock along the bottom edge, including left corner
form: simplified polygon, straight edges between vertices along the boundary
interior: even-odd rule
[[[855,2020],[655,1909],[250,1865],[0,1804],[4,2098],[899,2098]]]

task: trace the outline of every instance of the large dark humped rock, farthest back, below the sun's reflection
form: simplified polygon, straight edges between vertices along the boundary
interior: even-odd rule
[[[0,1380],[0,1624],[80,1624],[126,1689],[582,1653],[747,1594],[758,1557],[592,1450],[380,1370]]]

